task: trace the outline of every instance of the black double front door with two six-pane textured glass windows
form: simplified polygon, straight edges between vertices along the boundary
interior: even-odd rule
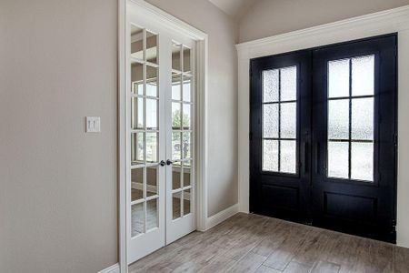
[[[395,242],[396,40],[251,60],[251,212]]]

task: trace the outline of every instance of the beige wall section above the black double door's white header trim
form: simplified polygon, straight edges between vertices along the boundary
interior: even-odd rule
[[[240,19],[240,42],[408,4],[409,0],[257,0]]]

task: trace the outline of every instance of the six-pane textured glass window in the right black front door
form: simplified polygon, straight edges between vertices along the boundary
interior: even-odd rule
[[[327,176],[374,181],[374,56],[328,62]]]

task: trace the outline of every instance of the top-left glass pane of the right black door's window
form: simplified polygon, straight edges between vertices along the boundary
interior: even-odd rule
[[[349,59],[328,62],[328,97],[349,96]]]

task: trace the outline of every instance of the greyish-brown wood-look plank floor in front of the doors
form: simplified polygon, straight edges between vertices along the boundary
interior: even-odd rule
[[[409,249],[239,213],[140,259],[129,272],[406,273]]]

